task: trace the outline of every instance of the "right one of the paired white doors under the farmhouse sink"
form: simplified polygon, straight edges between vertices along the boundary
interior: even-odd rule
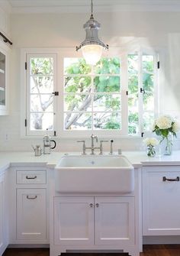
[[[133,197],[95,197],[95,244],[134,244]]]

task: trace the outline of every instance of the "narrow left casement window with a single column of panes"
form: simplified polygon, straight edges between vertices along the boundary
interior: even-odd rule
[[[27,135],[55,128],[56,55],[27,54]]]

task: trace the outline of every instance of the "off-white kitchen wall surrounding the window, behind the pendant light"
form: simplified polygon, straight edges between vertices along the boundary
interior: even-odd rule
[[[21,47],[76,47],[84,39],[82,25],[89,14],[26,14],[11,15],[11,112],[0,117],[0,150],[31,151],[31,144],[42,140],[20,137],[20,50]],[[98,13],[100,37],[111,47],[142,45],[166,50],[165,82],[161,97],[161,112],[180,112],[180,12],[115,12]],[[170,70],[169,70],[170,68]],[[5,141],[8,134],[8,141]],[[141,139],[115,141],[115,148],[142,148]],[[79,150],[73,140],[57,140],[56,150]],[[108,147],[107,147],[108,148]]]

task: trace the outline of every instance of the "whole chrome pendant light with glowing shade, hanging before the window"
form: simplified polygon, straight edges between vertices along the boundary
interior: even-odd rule
[[[95,65],[95,63],[101,59],[103,49],[108,50],[108,44],[104,44],[98,39],[98,29],[101,27],[101,24],[95,21],[93,17],[93,3],[91,5],[91,11],[90,19],[83,26],[86,33],[85,41],[83,41],[79,47],[76,47],[76,50],[82,49],[85,62],[90,65]]]

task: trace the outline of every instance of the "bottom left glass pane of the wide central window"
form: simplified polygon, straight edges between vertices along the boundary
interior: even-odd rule
[[[65,113],[64,124],[66,130],[92,129],[92,113]]]

